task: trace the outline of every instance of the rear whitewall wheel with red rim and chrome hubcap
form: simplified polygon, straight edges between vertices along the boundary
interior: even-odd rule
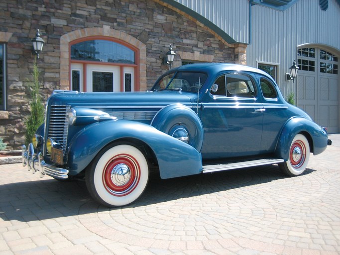
[[[289,159],[279,164],[281,171],[289,176],[302,174],[307,167],[309,153],[307,138],[302,134],[295,135],[289,148]]]

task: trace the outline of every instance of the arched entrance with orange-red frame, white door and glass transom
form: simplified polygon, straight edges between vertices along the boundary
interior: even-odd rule
[[[80,92],[138,90],[137,52],[125,42],[104,36],[73,41],[70,89]]]

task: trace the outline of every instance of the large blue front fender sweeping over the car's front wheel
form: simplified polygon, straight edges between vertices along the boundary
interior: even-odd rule
[[[73,137],[68,152],[70,175],[81,172],[103,147],[121,138],[146,143],[156,155],[163,179],[198,174],[202,170],[201,154],[192,146],[150,125],[119,120],[89,125]]]

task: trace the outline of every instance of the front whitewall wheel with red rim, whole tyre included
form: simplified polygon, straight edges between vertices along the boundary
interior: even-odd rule
[[[124,206],[145,190],[149,168],[144,154],[136,147],[109,145],[96,156],[85,179],[97,202],[109,207]]]

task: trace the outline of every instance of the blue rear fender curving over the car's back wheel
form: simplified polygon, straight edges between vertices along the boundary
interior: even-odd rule
[[[324,128],[306,118],[295,117],[288,120],[281,131],[276,146],[277,157],[288,160],[290,144],[298,133],[302,133],[307,137],[310,143],[310,150],[314,155],[320,154],[327,148],[328,137]]]

